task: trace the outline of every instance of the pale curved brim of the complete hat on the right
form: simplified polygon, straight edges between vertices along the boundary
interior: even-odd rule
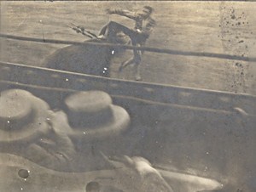
[[[127,111],[117,105],[110,105],[113,110],[113,120],[108,124],[103,124],[98,127],[56,127],[59,131],[67,133],[70,138],[81,138],[85,140],[95,139],[95,138],[106,138],[109,136],[115,136],[119,133],[124,132],[130,124],[130,116]],[[67,121],[67,115],[63,112],[59,113],[59,116],[66,116],[65,121]],[[63,121],[63,118],[62,118]],[[67,122],[68,123],[68,122]]]

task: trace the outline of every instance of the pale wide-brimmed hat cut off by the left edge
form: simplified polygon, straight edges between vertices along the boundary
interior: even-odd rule
[[[13,144],[39,138],[49,131],[49,105],[25,90],[9,89],[0,97],[0,143]]]

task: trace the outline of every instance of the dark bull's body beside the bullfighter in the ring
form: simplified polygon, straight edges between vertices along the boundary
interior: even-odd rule
[[[86,42],[105,42],[90,39]],[[49,55],[44,65],[51,69],[78,73],[109,76],[109,65],[113,58],[113,48],[100,45],[70,45]]]

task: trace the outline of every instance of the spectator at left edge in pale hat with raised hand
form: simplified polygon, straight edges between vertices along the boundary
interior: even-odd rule
[[[55,129],[49,105],[25,90],[10,89],[0,97],[1,152],[20,155],[43,167],[66,170],[73,161],[73,143]]]

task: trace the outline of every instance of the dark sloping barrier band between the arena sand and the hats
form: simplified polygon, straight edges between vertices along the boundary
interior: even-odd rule
[[[205,110],[230,111],[240,108],[247,114],[256,115],[254,107],[256,97],[249,94],[124,81],[5,62],[0,62],[1,81],[8,83],[9,87],[23,84],[23,87],[33,85],[75,91],[98,89],[112,95],[125,95],[166,104],[181,104]]]

